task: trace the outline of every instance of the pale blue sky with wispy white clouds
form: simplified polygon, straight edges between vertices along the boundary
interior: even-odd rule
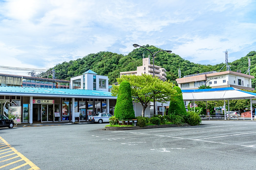
[[[135,43],[205,65],[225,63],[227,50],[232,62],[256,51],[255,9],[255,0],[0,0],[0,66],[47,69],[100,51],[127,55]]]

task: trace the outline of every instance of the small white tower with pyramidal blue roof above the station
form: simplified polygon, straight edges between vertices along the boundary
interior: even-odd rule
[[[109,91],[108,76],[100,76],[92,70],[70,79],[70,89]]]

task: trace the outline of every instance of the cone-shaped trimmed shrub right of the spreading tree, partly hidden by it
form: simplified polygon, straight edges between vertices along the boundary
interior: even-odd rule
[[[187,111],[184,105],[181,89],[178,86],[174,86],[173,89],[176,90],[177,94],[180,94],[180,95],[174,96],[174,100],[170,101],[168,114],[169,115],[170,114],[175,114],[175,115],[186,114]]]

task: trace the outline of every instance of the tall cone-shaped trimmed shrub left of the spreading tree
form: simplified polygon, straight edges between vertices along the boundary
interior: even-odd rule
[[[114,114],[118,119],[135,118],[131,96],[131,85],[128,81],[120,83]]]

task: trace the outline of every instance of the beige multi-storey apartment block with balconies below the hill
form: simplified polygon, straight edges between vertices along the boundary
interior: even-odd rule
[[[136,71],[125,71],[120,72],[120,76],[122,75],[141,75],[141,74],[151,74],[153,76],[153,65],[150,64],[150,58],[143,58],[142,60],[143,64],[142,66],[137,67]],[[166,70],[164,68],[161,68],[160,66],[155,65],[155,76],[157,76],[159,79],[165,81],[166,80]]]

